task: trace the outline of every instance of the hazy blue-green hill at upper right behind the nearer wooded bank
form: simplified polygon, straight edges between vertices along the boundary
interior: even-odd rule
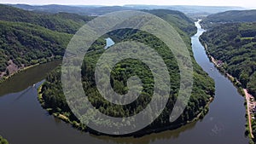
[[[202,20],[203,25],[212,26],[216,23],[230,23],[230,22],[255,22],[256,9],[253,10],[231,10],[218,14],[208,15]]]

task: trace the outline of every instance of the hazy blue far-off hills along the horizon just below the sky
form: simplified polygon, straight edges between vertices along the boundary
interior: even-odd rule
[[[42,5],[42,6],[31,6],[26,4],[13,4],[11,5],[16,8],[32,10],[32,11],[44,11],[49,13],[68,12],[75,14],[89,14],[89,15],[101,15],[107,14],[113,11],[119,10],[136,10],[136,9],[171,9],[181,11],[185,14],[216,14],[228,10],[245,10],[241,7],[217,7],[217,6],[184,6],[184,5],[125,5],[121,6],[67,6],[67,5]]]

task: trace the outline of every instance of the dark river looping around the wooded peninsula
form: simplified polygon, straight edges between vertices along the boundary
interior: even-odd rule
[[[215,81],[215,98],[206,117],[177,130],[166,130],[140,138],[113,138],[80,132],[50,116],[38,102],[37,88],[57,62],[35,66],[0,85],[0,135],[11,144],[247,144],[244,98],[228,78],[208,60],[199,42],[204,30],[191,37],[195,60]],[[36,84],[32,87],[32,84]]]

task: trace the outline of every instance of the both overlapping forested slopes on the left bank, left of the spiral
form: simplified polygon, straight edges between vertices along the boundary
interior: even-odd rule
[[[78,14],[34,13],[0,4],[0,78],[22,67],[60,59],[73,34],[91,19]]]

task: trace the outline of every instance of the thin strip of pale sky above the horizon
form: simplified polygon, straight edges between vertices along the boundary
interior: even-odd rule
[[[64,4],[64,5],[210,5],[210,6],[240,6],[256,8],[255,0],[0,0],[0,3],[26,4]]]

